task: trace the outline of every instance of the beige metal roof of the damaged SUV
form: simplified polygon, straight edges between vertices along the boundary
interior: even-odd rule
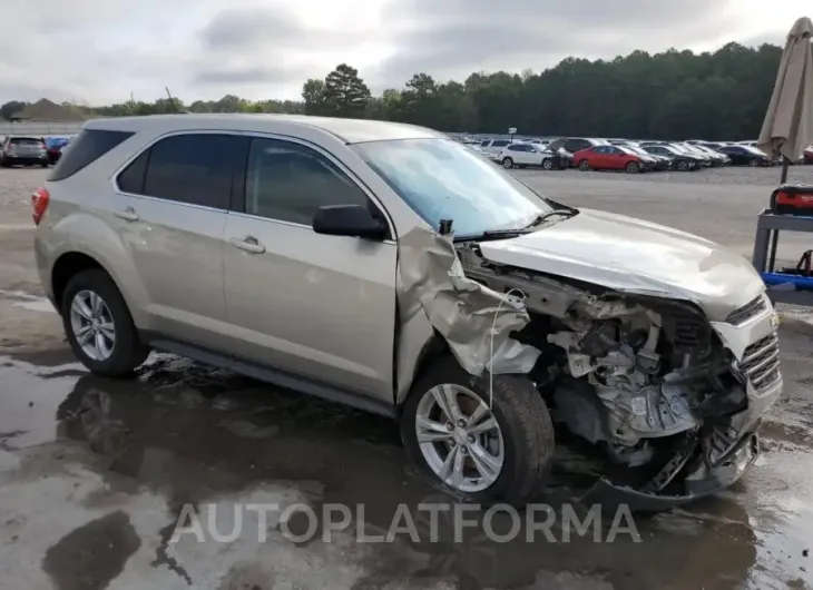
[[[189,114],[149,115],[146,117],[120,117],[96,119],[85,124],[86,129],[116,129],[143,131],[166,128],[167,130],[235,130],[281,132],[281,127],[308,127],[331,134],[345,144],[378,141],[384,139],[419,139],[445,137],[444,134],[402,122],[373,121],[366,119],[339,119],[310,117],[306,115],[264,114]]]

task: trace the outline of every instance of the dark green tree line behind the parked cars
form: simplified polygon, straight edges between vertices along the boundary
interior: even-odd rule
[[[302,100],[252,101],[235,95],[185,104],[175,98],[96,107],[98,116],[288,112],[411,122],[441,131],[626,138],[746,139],[760,132],[782,48],[728,43],[715,52],[634,51],[613,60],[567,58],[541,72],[474,72],[439,82],[419,72],[404,88],[373,96],[342,63],[308,79]],[[9,115],[26,104],[0,107]],[[7,108],[8,107],[8,108]]]

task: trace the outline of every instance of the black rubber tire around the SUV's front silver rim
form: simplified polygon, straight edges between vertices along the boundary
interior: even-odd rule
[[[483,406],[481,407],[488,410],[489,401],[488,376],[484,375],[472,384],[471,375],[466,373],[452,356],[439,358],[413,384],[401,416],[401,437],[408,456],[419,468],[429,483],[463,501],[482,504],[506,502],[522,508],[528,502],[539,498],[548,482],[554,461],[555,437],[548,409],[531,381],[523,375],[494,375],[493,377],[491,417],[499,425],[502,444],[498,444],[498,446],[502,450],[502,464],[493,481],[481,489],[471,489],[471,486],[464,489],[466,484],[453,486],[442,481],[435,471],[438,468],[430,465],[424,454],[424,450],[430,455],[437,453],[435,459],[439,459],[442,463],[441,453],[445,450],[447,458],[452,453],[448,445],[456,444],[454,436],[462,435],[463,440],[472,441],[472,439],[467,439],[466,435],[460,434],[462,431],[459,432],[459,429],[454,429],[453,432],[449,432],[448,430],[437,431],[433,429],[432,433],[438,436],[449,432],[447,434],[449,440],[444,442],[424,442],[422,445],[418,442],[418,416],[425,415],[423,409],[425,409],[427,403],[429,405],[434,403],[435,399],[430,392],[439,385],[466,390],[466,394],[458,394],[456,397],[466,401],[469,407],[472,404],[477,406],[482,402]],[[438,422],[434,425],[443,424],[448,429],[440,406],[435,404],[433,407],[438,411],[438,414],[434,415]],[[459,406],[461,411],[464,405]],[[428,415],[431,416],[432,414]],[[482,421],[479,423],[482,423]],[[483,440],[479,441],[477,446],[480,451],[486,449],[482,442]],[[468,445],[464,446],[468,448]],[[482,456],[479,452],[463,452],[462,456],[466,461],[463,469],[468,470],[469,474],[481,474],[474,468],[474,460],[472,459],[474,455]],[[493,459],[491,453],[489,455]],[[435,465],[438,465],[437,461]],[[481,476],[480,485],[483,483],[482,479]]]

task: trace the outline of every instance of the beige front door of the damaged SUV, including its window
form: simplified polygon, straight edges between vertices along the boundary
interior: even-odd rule
[[[226,314],[237,354],[392,401],[393,240],[313,232],[323,205],[373,207],[326,154],[252,139],[242,213],[225,230]]]

